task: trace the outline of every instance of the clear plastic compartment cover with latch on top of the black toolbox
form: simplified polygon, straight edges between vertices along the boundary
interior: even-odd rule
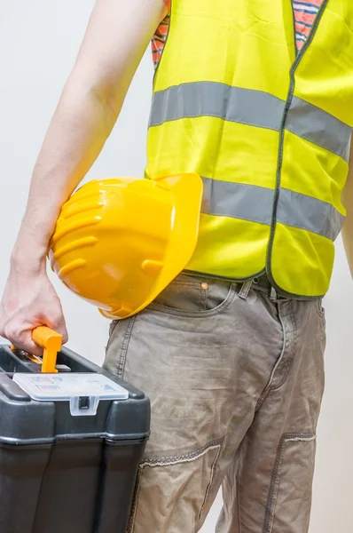
[[[13,381],[37,402],[70,402],[70,412],[74,417],[96,415],[101,400],[129,398],[129,391],[103,374],[17,372]]]

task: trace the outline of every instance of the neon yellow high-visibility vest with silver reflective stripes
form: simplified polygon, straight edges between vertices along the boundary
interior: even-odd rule
[[[146,176],[203,179],[188,271],[324,295],[352,126],[352,1],[325,0],[298,53],[292,0],[172,1]]]

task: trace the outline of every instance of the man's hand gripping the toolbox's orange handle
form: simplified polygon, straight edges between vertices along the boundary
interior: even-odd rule
[[[12,265],[0,304],[0,335],[29,354],[42,355],[32,330],[48,326],[67,342],[67,328],[59,298],[45,272]]]

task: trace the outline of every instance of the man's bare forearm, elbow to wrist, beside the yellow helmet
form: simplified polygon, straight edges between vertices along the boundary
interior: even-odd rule
[[[61,205],[96,160],[116,115],[93,92],[64,91],[35,164],[13,262],[45,257]]]

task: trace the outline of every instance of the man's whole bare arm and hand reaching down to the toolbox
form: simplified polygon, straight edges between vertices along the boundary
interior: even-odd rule
[[[45,256],[62,204],[97,159],[137,66],[167,11],[163,0],[98,0],[33,173],[0,307],[0,335],[34,354],[37,325],[67,337]]]

